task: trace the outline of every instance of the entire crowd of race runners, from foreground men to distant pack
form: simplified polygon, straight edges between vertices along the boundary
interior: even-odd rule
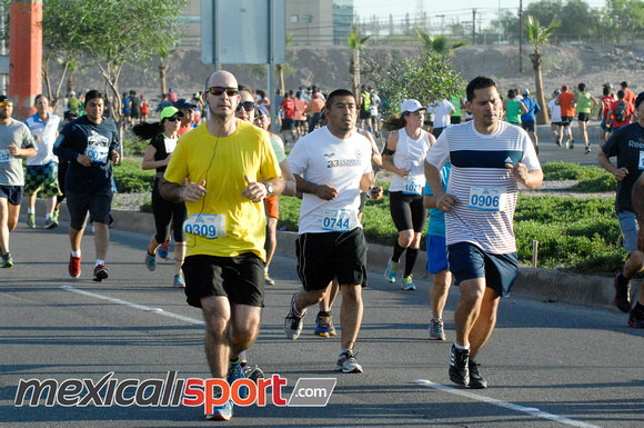
[[[260,331],[264,287],[274,285],[269,269],[278,245],[279,196],[302,199],[295,253],[302,287],[284,302],[285,336],[299,338],[311,306],[319,307],[315,335],[336,336],[331,312],[340,295],[334,370],[363,372],[355,351],[363,312],[369,310],[362,301],[368,245],[361,219],[366,200],[383,196],[374,178],[374,168],[382,168],[392,176],[391,221],[399,232],[382,275],[396,282],[404,261],[401,288],[416,289],[412,272],[429,215],[426,269],[433,285],[427,338],[446,340],[443,310],[452,283],[460,286],[445,366],[453,382],[486,388],[476,358],[494,329],[500,298],[510,295],[519,273],[512,227],[517,185],[536,188],[543,180],[535,129],[541,107],[527,88],[502,97],[492,79],[479,77],[469,82],[464,96],[429,106],[402,100],[400,113],[386,120],[381,112],[388,101],[370,88],[362,87],[359,94],[301,88],[284,97],[278,93],[271,109],[263,91],[239,84],[227,71],[212,73],[204,91],[192,98],[164,97],[155,110],[158,121],[143,116],[143,98],[135,91],[123,96],[130,109],[123,115],[133,133],[149,141],[141,167],[155,170],[155,233],[141,262],[155,270],[158,257],[168,257],[174,237],[172,286],[183,289],[188,303],[203,312],[205,356],[214,378],[232,384],[263,377],[260,367],[249,364],[246,351]],[[644,92],[635,97],[623,82],[616,99],[612,97],[611,86],[597,100],[583,83],[574,93],[564,84],[547,109],[555,142],[568,149],[574,147],[570,128],[576,111],[586,155],[591,115],[602,120],[597,159],[617,179],[616,212],[628,255],[614,278],[615,305],[630,312],[632,327],[642,328],[644,292],[633,306],[630,280],[644,269],[644,235],[638,232],[644,221]],[[27,226],[33,228],[33,202],[40,191],[47,200],[46,229],[58,227],[59,206],[67,199],[69,275],[81,276],[81,241],[89,218],[97,259],[92,279],[109,277],[111,165],[119,161],[120,141],[115,123],[105,117],[105,101],[101,92],[90,90],[79,106],[68,101],[61,120],[40,94],[37,112],[20,122],[11,118],[12,101],[0,97],[4,268],[13,267],[9,233],[18,222],[22,195],[28,200]],[[282,138],[270,131],[273,120]],[[293,146],[286,156],[289,141]],[[229,400],[208,418],[228,420],[232,412]]]

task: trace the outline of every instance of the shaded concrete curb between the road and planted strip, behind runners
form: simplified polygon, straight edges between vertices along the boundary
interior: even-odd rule
[[[38,199],[36,201],[36,210],[37,212],[44,210],[44,200]],[[26,205],[20,207],[20,212],[27,213]],[[154,233],[154,218],[150,212],[112,209],[112,217],[114,222],[111,227],[114,229],[137,233]],[[61,206],[60,218],[66,221],[70,219],[66,203]],[[275,253],[294,258],[296,239],[296,232],[279,230]],[[392,247],[370,243],[369,252],[366,253],[368,269],[384,272],[391,253]],[[426,272],[425,266],[426,253],[421,251],[413,271],[416,278],[424,277]],[[562,301],[577,306],[616,310],[613,305],[614,291],[610,277],[566,273],[559,270],[521,266],[519,268],[519,278],[512,292],[513,296],[527,297],[546,302]]]

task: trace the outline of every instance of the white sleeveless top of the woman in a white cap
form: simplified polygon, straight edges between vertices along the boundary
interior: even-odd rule
[[[410,169],[407,178],[394,173],[389,191],[402,191],[409,195],[422,195],[425,185],[423,160],[430,150],[427,132],[421,129],[421,137],[412,140],[404,128],[398,130],[398,145],[393,155],[393,165],[396,168]]]

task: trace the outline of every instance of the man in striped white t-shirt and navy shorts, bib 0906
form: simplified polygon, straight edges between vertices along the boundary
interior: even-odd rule
[[[499,297],[510,295],[519,273],[512,230],[517,182],[536,188],[543,172],[527,133],[500,120],[503,104],[494,80],[472,80],[465,106],[474,120],[447,128],[424,168],[436,207],[446,212],[450,271],[461,288],[450,379],[486,388],[474,358],[494,329]],[[446,161],[452,172],[445,192],[439,171]]]

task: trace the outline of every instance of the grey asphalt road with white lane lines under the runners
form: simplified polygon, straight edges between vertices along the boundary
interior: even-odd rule
[[[41,222],[42,219],[39,219]],[[11,235],[16,266],[0,270],[0,426],[2,427],[642,427],[644,331],[615,311],[511,297],[479,356],[485,390],[447,378],[455,288],[445,313],[449,340],[427,340],[429,288],[402,291],[370,272],[356,349],[363,375],[333,371],[339,339],[284,337],[283,317],[299,287],[294,259],[279,257],[266,290],[251,364],[288,379],[335,378],[326,407],[235,408],[230,422],[207,422],[202,407],[14,406],[21,379],[207,378],[200,311],[172,289],[171,266],[143,266],[148,237],[112,230],[110,278],[91,281],[93,237],[84,238],[82,275],[67,273],[67,227]],[[161,310],[159,310],[161,309]],[[339,307],[333,309],[339,324]]]

